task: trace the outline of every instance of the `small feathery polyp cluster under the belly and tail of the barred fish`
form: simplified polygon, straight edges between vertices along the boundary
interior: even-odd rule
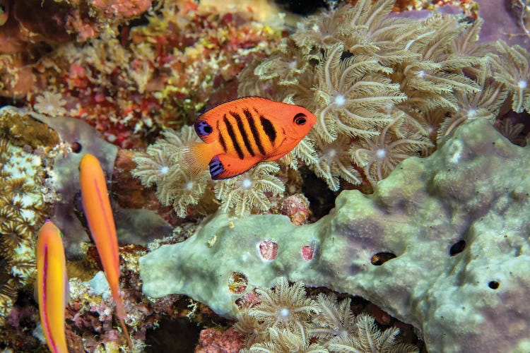
[[[285,186],[276,174],[278,164],[265,162],[249,172],[232,179],[212,181],[210,173],[204,171],[197,176],[184,173],[179,161],[179,148],[189,141],[197,141],[192,126],[183,126],[180,131],[167,129],[164,138],[150,145],[146,152],[139,152],[133,157],[136,168],[132,175],[139,177],[144,186],[156,184],[156,196],[163,205],[172,205],[179,217],[189,214],[189,206],[220,203],[225,212],[233,211],[236,215],[249,215],[253,211],[268,211],[271,208],[270,198],[283,194]],[[212,190],[215,198],[208,190]],[[200,208],[198,208],[200,209]],[[215,208],[214,208],[215,210]]]

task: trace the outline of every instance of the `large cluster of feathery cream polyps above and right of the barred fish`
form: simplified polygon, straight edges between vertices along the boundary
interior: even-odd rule
[[[240,74],[240,96],[288,100],[317,115],[308,143],[319,157],[305,163],[333,191],[341,180],[375,186],[406,157],[430,155],[466,119],[495,123],[510,97],[516,112],[526,107],[525,49],[500,42],[487,55],[480,18],[389,16],[394,2],[309,16]]]

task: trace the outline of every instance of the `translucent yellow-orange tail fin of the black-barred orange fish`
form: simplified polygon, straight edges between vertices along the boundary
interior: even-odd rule
[[[178,152],[180,166],[187,175],[204,172],[214,155],[214,143],[188,142]]]

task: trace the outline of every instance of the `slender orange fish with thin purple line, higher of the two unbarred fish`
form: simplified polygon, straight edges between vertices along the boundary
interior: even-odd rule
[[[114,303],[116,303],[116,314],[119,323],[122,325],[124,333],[132,347],[131,337],[127,331],[124,317],[125,307],[122,298],[119,297],[119,256],[118,238],[114,217],[110,208],[110,200],[107,191],[105,174],[101,169],[100,162],[93,155],[86,154],[81,158],[79,164],[79,181],[81,183],[81,199],[83,210],[98,249],[105,276],[110,285]]]

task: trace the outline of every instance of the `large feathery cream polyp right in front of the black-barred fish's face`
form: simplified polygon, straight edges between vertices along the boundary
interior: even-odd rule
[[[316,69],[319,80],[315,89],[315,130],[326,142],[334,141],[338,133],[377,135],[377,126],[391,121],[391,116],[379,108],[406,98],[399,85],[382,75],[391,73],[391,69],[380,65],[376,58],[342,59],[343,54],[343,44],[335,44]]]

